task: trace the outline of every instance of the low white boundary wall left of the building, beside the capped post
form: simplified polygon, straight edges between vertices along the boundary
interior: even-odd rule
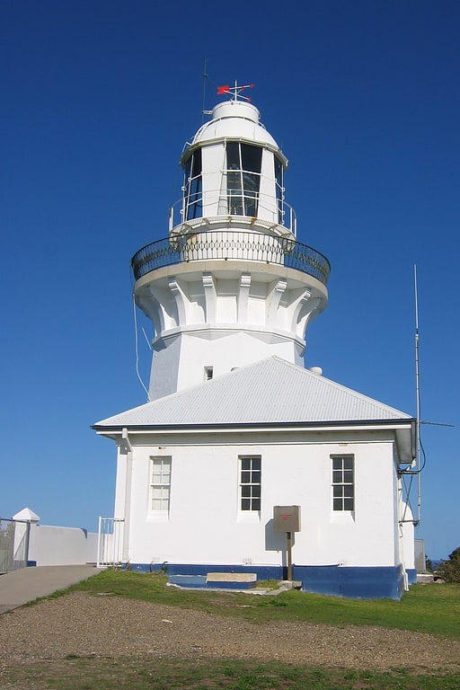
[[[78,527],[31,525],[29,561],[81,565],[97,561],[97,534]]]

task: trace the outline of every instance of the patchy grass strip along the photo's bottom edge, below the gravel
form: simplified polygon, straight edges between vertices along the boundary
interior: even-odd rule
[[[325,669],[250,660],[67,658],[7,669],[3,683],[35,690],[458,690],[460,673]]]

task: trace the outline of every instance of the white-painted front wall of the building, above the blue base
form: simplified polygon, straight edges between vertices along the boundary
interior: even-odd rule
[[[130,441],[135,443],[133,437]],[[286,535],[273,532],[274,505],[301,506],[296,564],[400,562],[391,431],[346,432],[340,439],[327,431],[293,431],[197,435],[181,441],[173,446],[171,438],[155,436],[155,446],[133,449],[131,562],[284,563]],[[144,438],[143,443],[152,441]],[[332,454],[355,456],[353,515],[332,511]],[[238,509],[242,455],[261,455],[261,515]],[[150,509],[150,456],[173,458],[169,516]]]

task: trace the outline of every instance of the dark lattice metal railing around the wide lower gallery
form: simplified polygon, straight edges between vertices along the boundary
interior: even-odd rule
[[[176,234],[146,244],[131,259],[134,278],[174,264],[203,260],[261,261],[300,270],[326,285],[331,265],[323,254],[288,237],[243,230]]]

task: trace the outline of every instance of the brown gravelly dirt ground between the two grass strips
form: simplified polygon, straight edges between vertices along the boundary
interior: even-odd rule
[[[4,668],[67,655],[279,659],[340,668],[460,668],[460,642],[372,626],[254,624],[76,592],[0,617]]]

